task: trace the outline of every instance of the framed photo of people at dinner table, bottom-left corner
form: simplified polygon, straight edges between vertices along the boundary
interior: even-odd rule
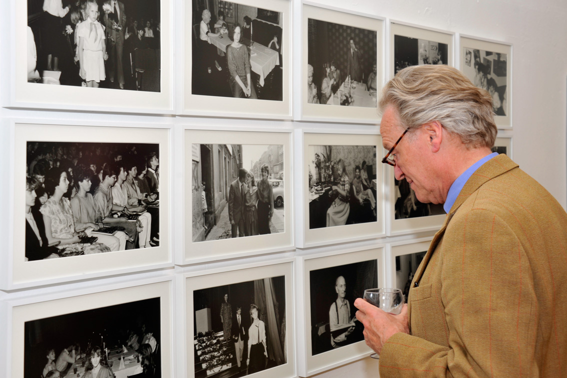
[[[10,303],[5,376],[172,376],[171,278],[146,282]]]

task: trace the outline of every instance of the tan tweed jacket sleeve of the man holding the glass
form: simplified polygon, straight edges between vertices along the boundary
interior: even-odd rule
[[[428,316],[444,317],[446,327],[439,332],[446,345],[397,333],[380,354],[380,376],[539,376],[538,304],[521,242],[491,211],[475,209],[454,218],[435,250],[442,253],[441,292],[409,294],[412,327],[426,325]],[[427,285],[412,290],[422,286]]]

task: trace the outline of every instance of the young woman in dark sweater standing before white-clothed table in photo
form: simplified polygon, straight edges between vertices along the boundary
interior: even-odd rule
[[[233,97],[257,99],[250,79],[250,56],[246,45],[240,43],[240,26],[234,27],[232,44],[226,47],[226,58],[230,71],[230,88]]]

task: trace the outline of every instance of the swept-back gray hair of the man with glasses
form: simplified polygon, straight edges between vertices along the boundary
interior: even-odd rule
[[[407,67],[382,91],[379,110],[392,105],[402,126],[409,130],[438,121],[468,148],[493,147],[492,96],[475,87],[459,70],[445,65]]]

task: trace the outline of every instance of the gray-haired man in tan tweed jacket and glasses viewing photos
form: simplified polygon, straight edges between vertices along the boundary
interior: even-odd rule
[[[384,87],[380,109],[382,161],[447,211],[400,315],[354,302],[380,377],[564,375],[567,214],[491,153],[488,92],[454,68],[413,66]]]

